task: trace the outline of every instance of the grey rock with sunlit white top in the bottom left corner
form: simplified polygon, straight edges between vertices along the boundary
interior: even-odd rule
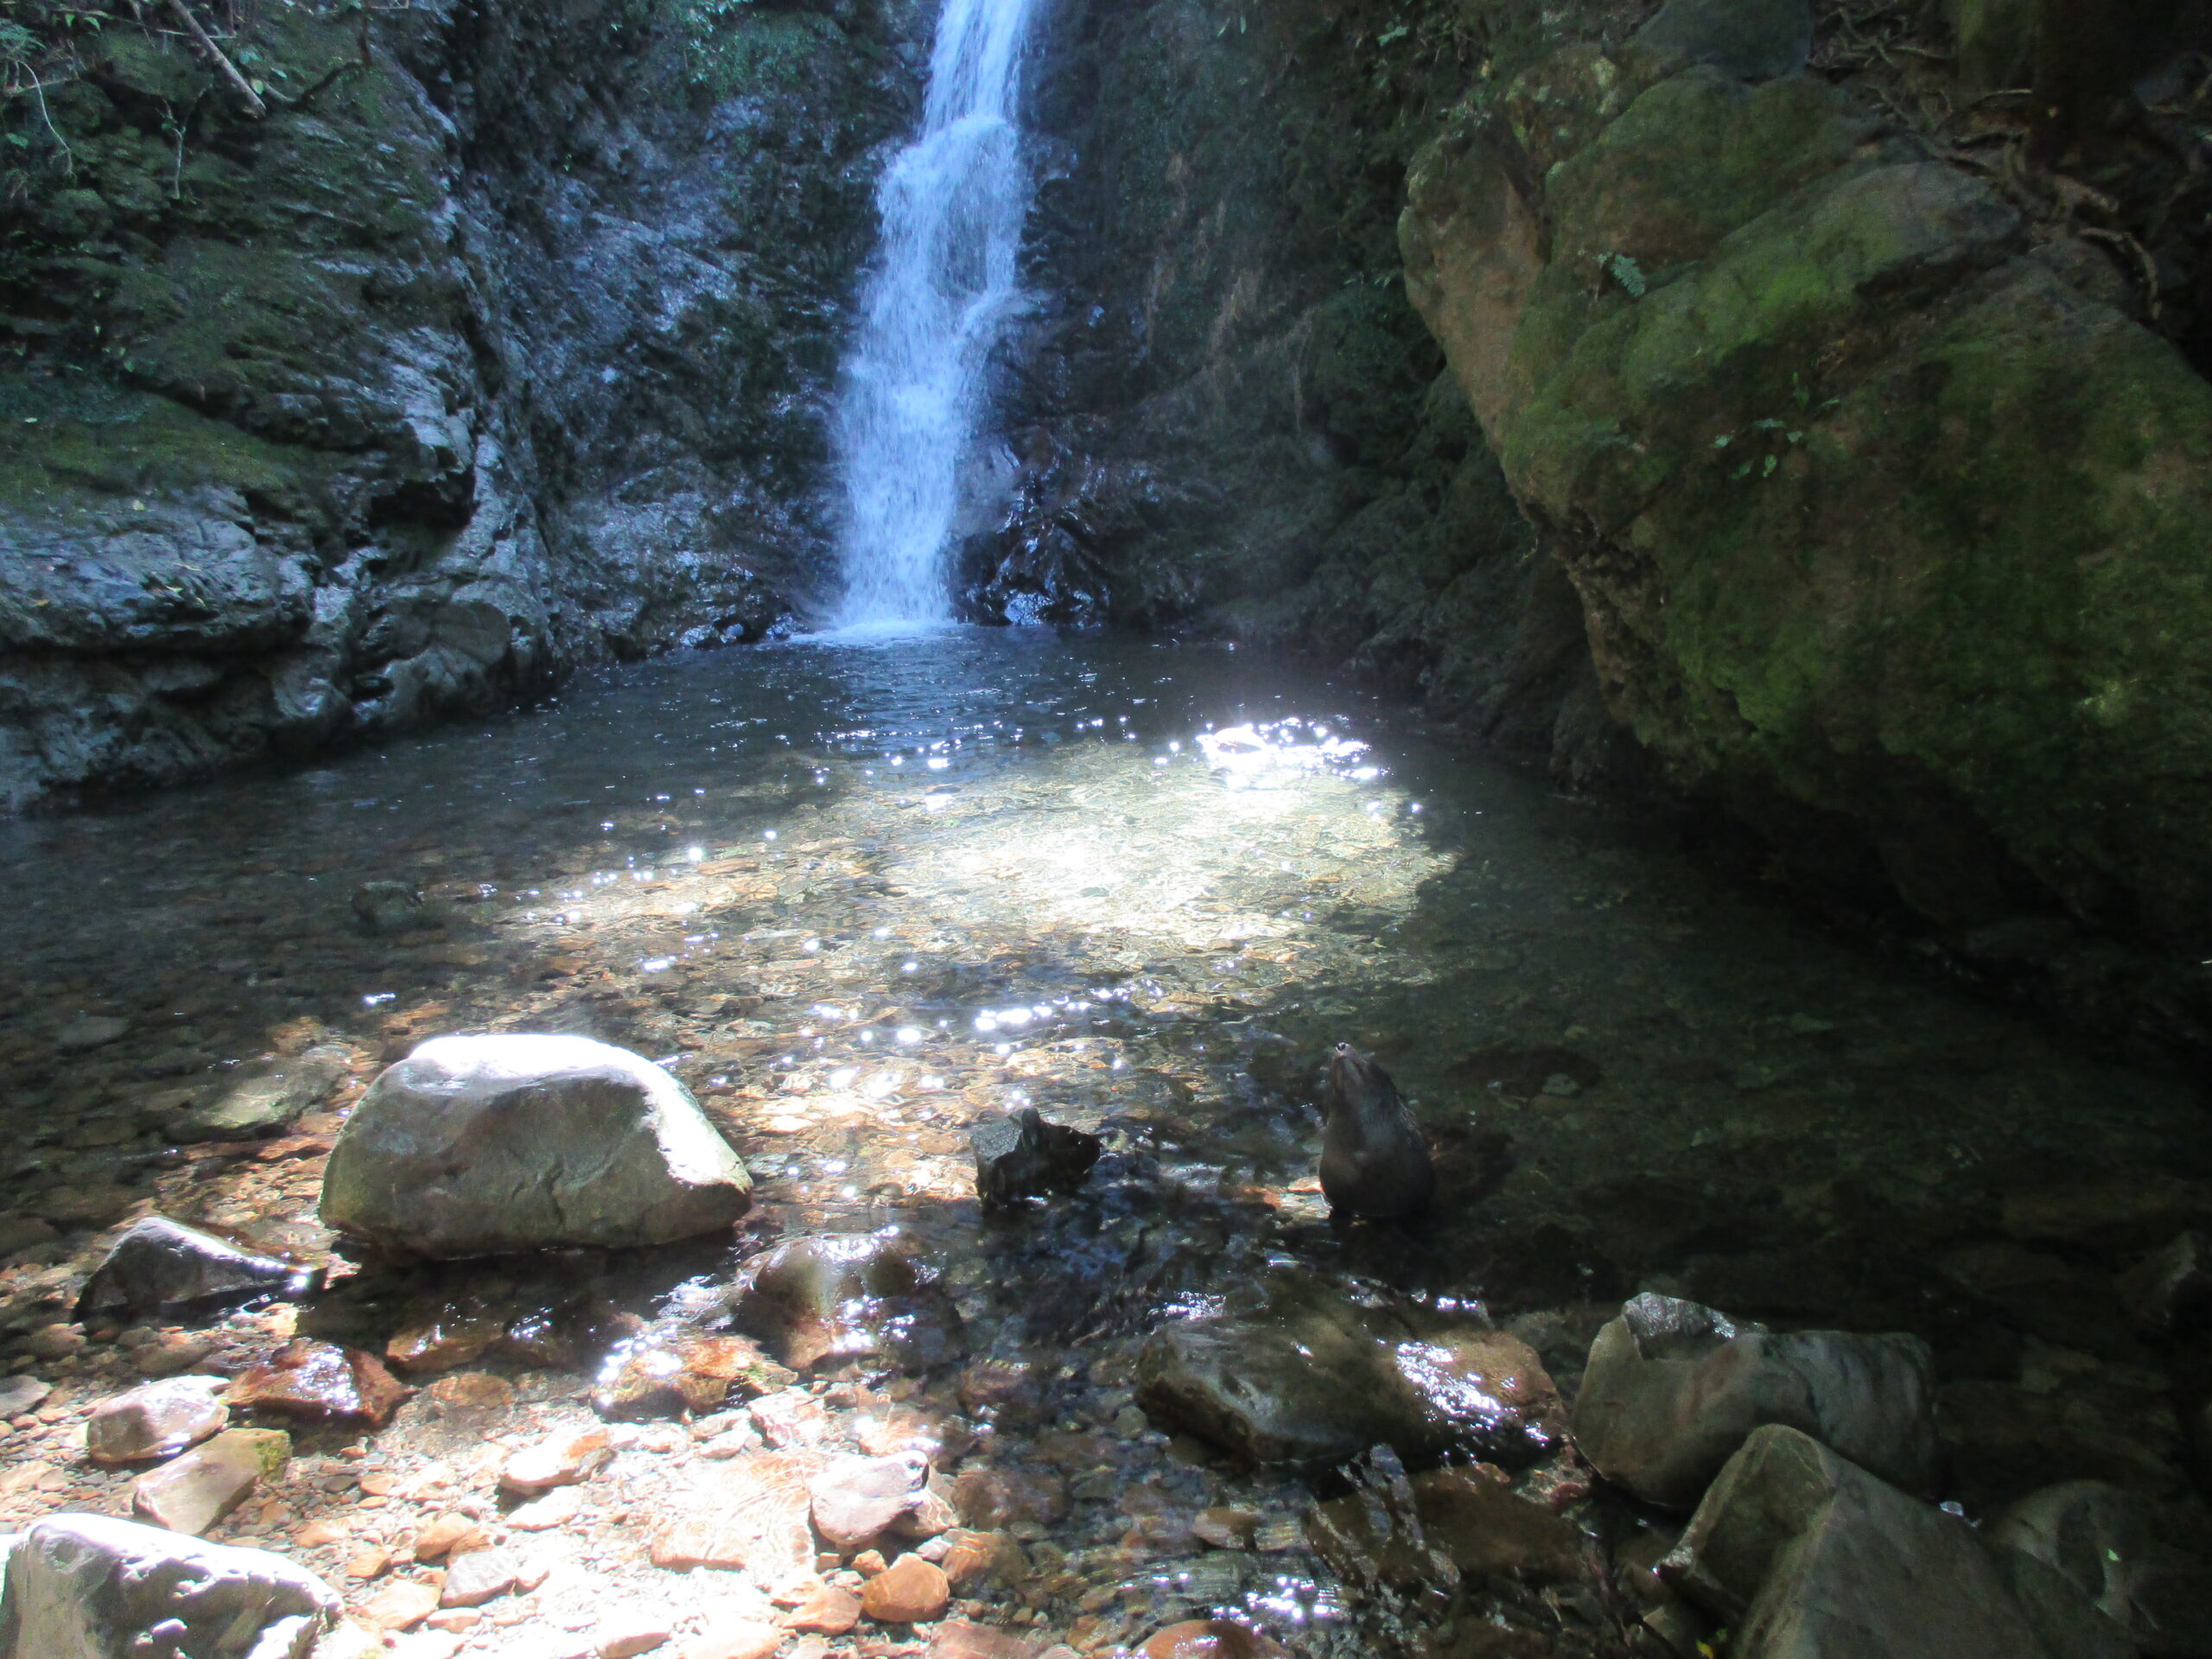
[[[336,1593],[270,1551],[106,1515],[53,1515],[7,1555],[0,1659],[307,1659]]]

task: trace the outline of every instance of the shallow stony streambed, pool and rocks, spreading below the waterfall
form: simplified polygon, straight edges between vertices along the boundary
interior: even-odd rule
[[[64,1557],[416,1659],[2203,1646],[2194,1091],[1237,653],[679,659],[7,834],[20,1652]],[[571,1128],[440,1259],[334,1146],[456,1033],[626,1051],[723,1210],[538,1203]],[[1422,1225],[1327,1219],[1338,1040]],[[1095,1164],[987,1206],[1020,1108]]]

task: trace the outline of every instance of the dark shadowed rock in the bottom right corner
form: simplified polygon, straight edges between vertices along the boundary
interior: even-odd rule
[[[2097,1480],[2044,1486],[1989,1526],[2059,1573],[2146,1655],[2212,1652],[2212,1517]]]

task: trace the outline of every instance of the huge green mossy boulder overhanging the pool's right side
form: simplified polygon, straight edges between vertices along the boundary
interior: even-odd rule
[[[1511,283],[1495,144],[1416,164],[1402,239],[1615,712],[1690,790],[1856,823],[1947,927],[2212,936],[2212,385],[1823,84],[1584,126]]]

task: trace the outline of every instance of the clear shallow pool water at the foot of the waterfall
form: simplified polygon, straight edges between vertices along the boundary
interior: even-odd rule
[[[1144,1334],[1265,1274],[1480,1303],[1564,1380],[1644,1285],[1913,1329],[1975,1511],[2073,1473],[2181,1482],[2174,1378],[2112,1274],[2203,1201],[2190,1091],[1243,653],[942,630],[675,659],[0,841],[18,1212],[119,1186],[321,1250],[312,1157],[179,1152],[161,1115],[310,1037],[354,1044],[363,1073],[445,1031],[633,1046],[750,1159],[754,1241],[911,1239],[964,1329],[929,1398],[962,1411],[960,1367],[1026,1367],[1037,1409],[975,1455],[1062,1480],[1068,1509],[1029,1528],[1033,1575],[987,1613],[1088,1648],[1214,1608],[1301,1652],[1383,1641],[1301,1544],[1310,1489],[1110,1429]],[[361,931],[367,880],[420,887],[438,925]],[[88,1015],[128,1029],[60,1053]],[[1422,1232],[1323,1217],[1307,1102],[1336,1040],[1374,1048],[1458,1157]],[[1024,1099],[1113,1150],[1079,1197],[989,1221],[967,1126]],[[91,1234],[73,1241],[82,1270]],[[0,1294],[53,1272],[9,1265]],[[695,1272],[639,1259],[602,1292],[650,1316]],[[495,1283],[515,1292],[511,1267]],[[374,1303],[347,1318],[354,1340],[389,1334]],[[582,1411],[577,1378],[522,1387],[531,1411]],[[690,1478],[619,1491],[666,1513]],[[71,1502],[122,1502],[102,1491]],[[62,1500],[9,1495],[0,1522],[38,1502]],[[1272,1548],[1170,1524],[1208,1504],[1259,1513]],[[611,1537],[467,1652],[551,1652],[544,1621],[597,1599],[690,1606],[730,1582]],[[1517,1595],[1480,1617],[1548,1619],[1562,1650],[1617,1637],[1604,1597]]]

